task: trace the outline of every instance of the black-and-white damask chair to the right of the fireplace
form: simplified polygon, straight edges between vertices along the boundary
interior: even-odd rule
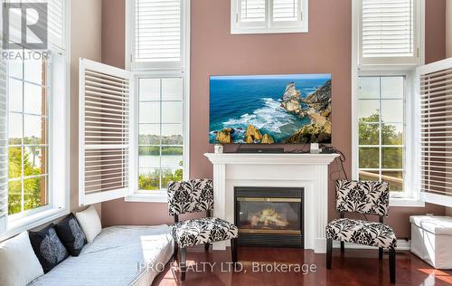
[[[391,283],[395,283],[395,247],[397,238],[391,227],[383,224],[383,217],[389,215],[389,187],[385,182],[358,182],[338,180],[336,182],[336,209],[341,218],[326,225],[326,268],[331,269],[333,241],[359,243],[389,250]],[[358,213],[366,220],[345,218],[344,213]],[[378,215],[379,223],[367,221],[365,215]]]

